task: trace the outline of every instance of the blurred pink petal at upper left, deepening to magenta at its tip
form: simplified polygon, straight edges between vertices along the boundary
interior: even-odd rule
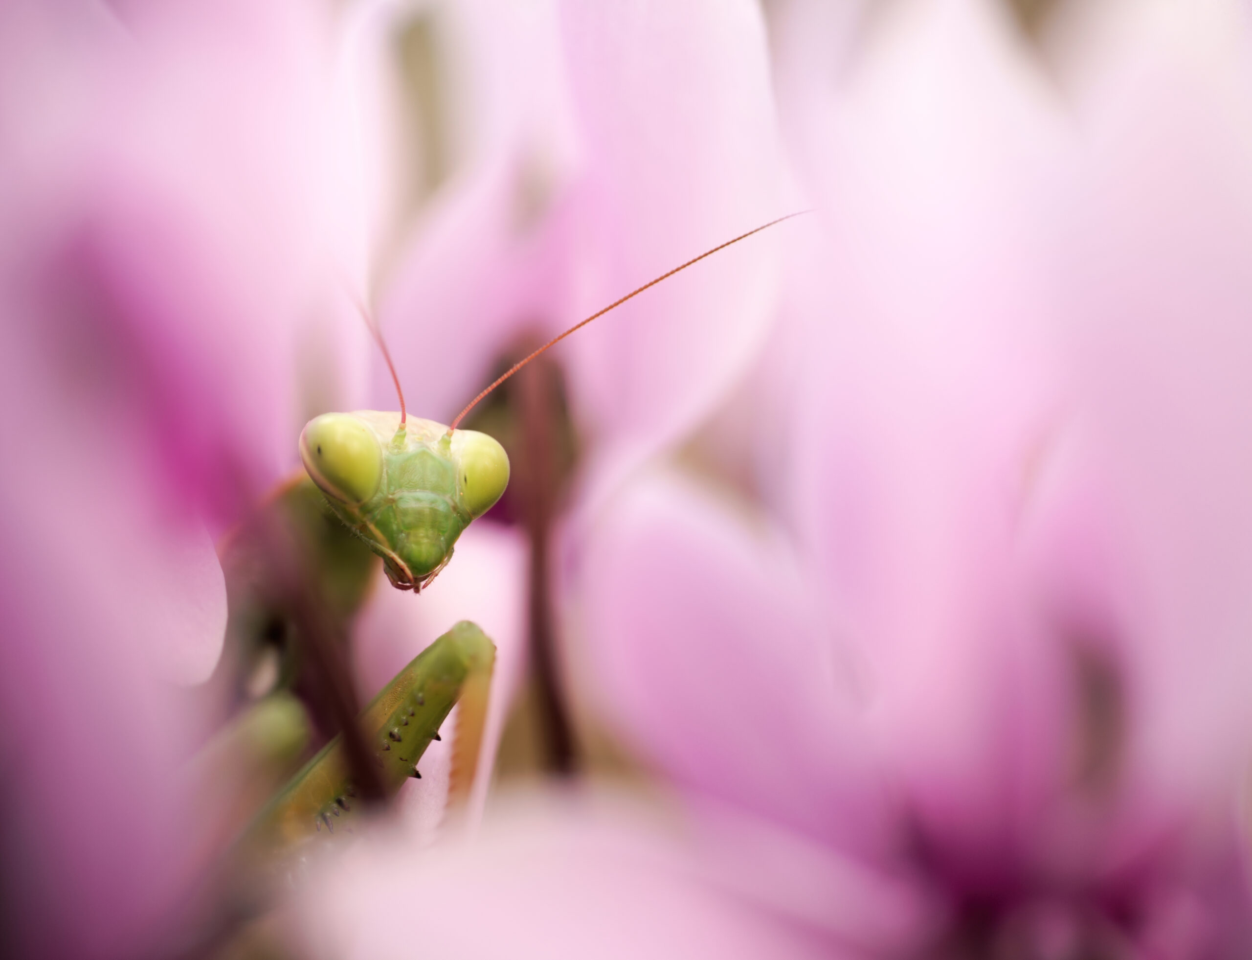
[[[277,477],[303,419],[295,340],[334,252],[328,25],[299,4],[5,15],[23,189],[0,243],[61,298],[56,335],[128,365],[172,481],[229,511],[232,471]]]

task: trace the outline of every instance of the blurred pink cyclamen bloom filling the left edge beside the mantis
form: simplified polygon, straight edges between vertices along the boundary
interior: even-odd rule
[[[295,462],[328,26],[304,4],[0,4],[15,955],[160,949],[204,866],[184,775],[219,719],[189,689],[225,625],[209,530]]]

